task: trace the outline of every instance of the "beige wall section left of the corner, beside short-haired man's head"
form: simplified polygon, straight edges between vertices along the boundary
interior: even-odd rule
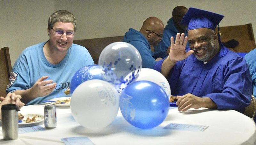
[[[46,41],[54,1],[0,1],[0,48],[9,47],[12,66],[28,46]]]

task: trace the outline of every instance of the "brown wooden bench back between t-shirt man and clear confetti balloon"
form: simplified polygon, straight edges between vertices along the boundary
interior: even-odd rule
[[[74,40],[74,44],[78,44],[87,48],[90,52],[92,59],[95,64],[99,64],[99,57],[102,50],[109,44],[113,42],[122,41],[124,36],[116,37],[105,37],[105,38],[93,38],[93,39],[83,39],[83,40]]]

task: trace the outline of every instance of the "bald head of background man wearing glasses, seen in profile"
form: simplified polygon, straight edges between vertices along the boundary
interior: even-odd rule
[[[149,17],[143,22],[140,32],[147,38],[150,45],[157,45],[162,40],[164,24],[157,17]]]

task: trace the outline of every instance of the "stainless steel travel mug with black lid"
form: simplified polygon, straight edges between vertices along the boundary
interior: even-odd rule
[[[2,111],[2,131],[4,140],[14,140],[18,138],[18,111],[15,104],[3,105]]]

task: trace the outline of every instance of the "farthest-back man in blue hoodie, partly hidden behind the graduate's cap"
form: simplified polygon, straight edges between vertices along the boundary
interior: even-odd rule
[[[170,44],[171,37],[176,39],[177,33],[185,33],[185,36],[188,36],[188,26],[180,24],[182,18],[187,13],[188,8],[184,6],[177,6],[172,10],[172,18],[170,18],[167,22],[167,25],[164,28],[164,36],[162,41],[154,47],[156,53],[160,52],[160,57],[165,58],[169,54],[168,47]],[[189,44],[187,44],[189,46]]]

